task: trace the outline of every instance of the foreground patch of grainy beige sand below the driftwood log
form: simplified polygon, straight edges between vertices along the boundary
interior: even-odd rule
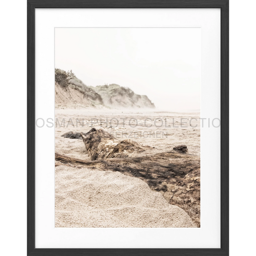
[[[55,177],[55,227],[197,227],[184,210],[138,178],[64,165],[56,167]]]

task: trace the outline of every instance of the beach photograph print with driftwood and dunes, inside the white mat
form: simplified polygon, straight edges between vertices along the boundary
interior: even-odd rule
[[[55,228],[200,228],[201,28],[55,28]]]

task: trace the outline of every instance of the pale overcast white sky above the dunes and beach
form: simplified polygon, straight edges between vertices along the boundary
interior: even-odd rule
[[[200,28],[55,28],[55,68],[118,84],[158,110],[200,110]]]

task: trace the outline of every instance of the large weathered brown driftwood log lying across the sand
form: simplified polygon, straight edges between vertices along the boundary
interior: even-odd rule
[[[200,226],[200,156],[185,154],[187,147],[180,145],[174,151],[131,157],[150,147],[132,140],[119,142],[103,129],[93,128],[80,135],[92,161],[55,153],[57,161],[138,177],[152,190],[161,192],[170,204],[184,209]]]

